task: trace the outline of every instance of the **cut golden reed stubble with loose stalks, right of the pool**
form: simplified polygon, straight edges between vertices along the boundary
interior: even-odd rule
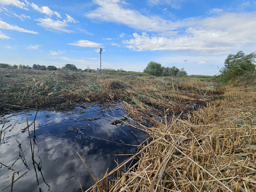
[[[87,191],[256,191],[256,94],[253,88],[225,89],[225,97],[187,120],[170,109],[153,113],[149,105],[124,102],[133,126],[149,138]],[[129,166],[133,158],[138,161]]]

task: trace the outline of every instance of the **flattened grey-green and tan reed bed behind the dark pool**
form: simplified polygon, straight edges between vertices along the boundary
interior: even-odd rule
[[[57,70],[46,74],[0,74],[0,111],[64,106],[88,101],[141,101],[153,106],[172,107],[181,112],[184,104],[202,103],[219,92],[204,82],[145,73],[89,74]],[[213,85],[213,84],[211,84]],[[178,94],[177,94],[178,93]],[[169,103],[169,104],[168,104]],[[164,105],[162,105],[164,104]]]

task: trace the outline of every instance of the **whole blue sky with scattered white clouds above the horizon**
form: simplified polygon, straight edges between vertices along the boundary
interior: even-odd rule
[[[0,63],[215,75],[255,31],[255,0],[0,0]]]

